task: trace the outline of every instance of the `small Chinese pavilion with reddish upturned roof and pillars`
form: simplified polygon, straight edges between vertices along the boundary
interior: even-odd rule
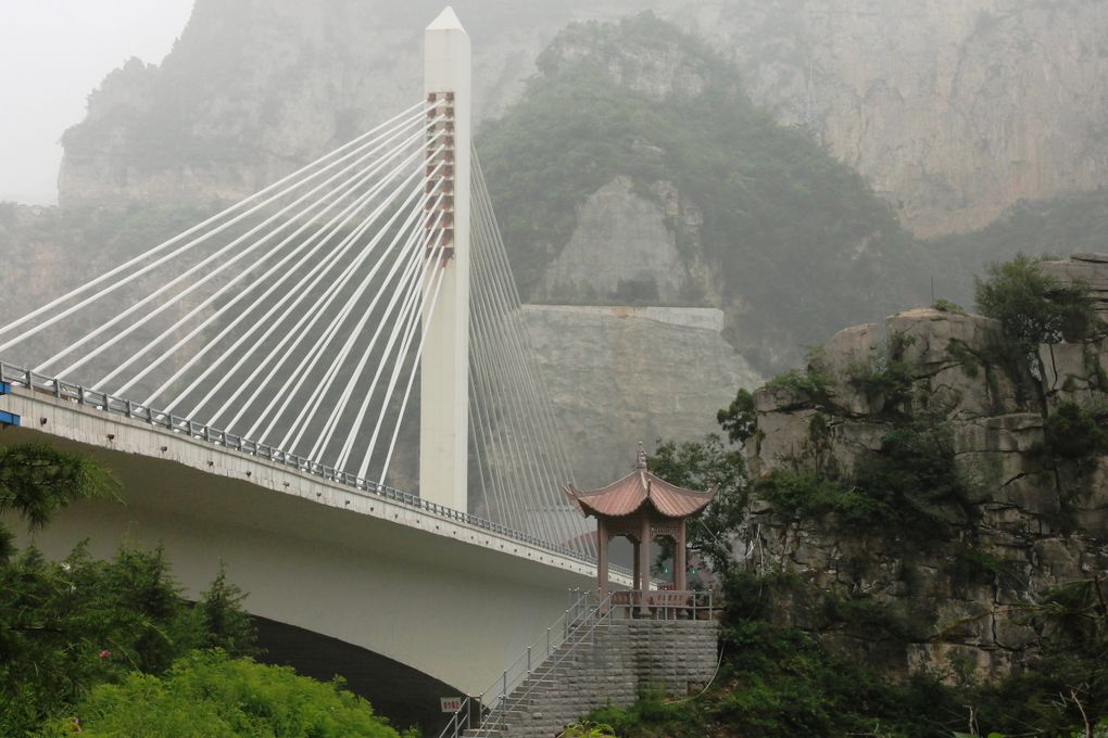
[[[596,518],[597,589],[603,600],[608,590],[608,542],[623,536],[635,547],[633,591],[645,611],[650,601],[650,541],[669,538],[674,542],[673,589],[686,590],[685,522],[702,511],[716,490],[697,492],[670,485],[646,467],[646,451],[638,445],[635,470],[607,487],[585,492],[573,485],[565,493],[586,517]]]

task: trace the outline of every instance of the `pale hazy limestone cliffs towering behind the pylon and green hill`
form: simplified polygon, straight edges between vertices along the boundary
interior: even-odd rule
[[[736,60],[748,92],[812,129],[923,236],[1020,198],[1108,180],[1108,6],[1099,0],[653,0]],[[495,115],[567,22],[636,0],[455,3],[474,41],[476,111]],[[420,91],[431,0],[197,0],[161,69],[131,63],[65,137],[63,204],[253,191]],[[659,48],[643,90],[694,89]],[[678,74],[658,74],[659,71]],[[667,72],[668,73],[668,72]],[[658,91],[655,91],[658,92]]]

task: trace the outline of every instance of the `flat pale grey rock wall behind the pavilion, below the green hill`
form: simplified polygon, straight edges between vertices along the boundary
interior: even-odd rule
[[[526,305],[524,315],[584,488],[627,474],[637,440],[718,430],[716,410],[759,382],[720,335],[718,310]]]

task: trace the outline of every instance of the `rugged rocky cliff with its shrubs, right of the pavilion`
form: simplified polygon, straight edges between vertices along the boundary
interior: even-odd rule
[[[1102,283],[1105,267],[1044,271]],[[840,332],[755,394],[746,561],[814,586],[788,616],[890,674],[1018,669],[1049,636],[1037,597],[1108,573],[1092,441],[1108,344],[1042,345],[1036,377],[1010,371],[1005,341],[996,321],[913,310]]]

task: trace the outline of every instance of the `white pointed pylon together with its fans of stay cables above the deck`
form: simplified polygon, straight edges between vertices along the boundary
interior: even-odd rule
[[[424,75],[408,110],[0,326],[0,376],[359,490],[418,479],[435,506],[595,555],[560,492],[572,466],[449,8]]]

